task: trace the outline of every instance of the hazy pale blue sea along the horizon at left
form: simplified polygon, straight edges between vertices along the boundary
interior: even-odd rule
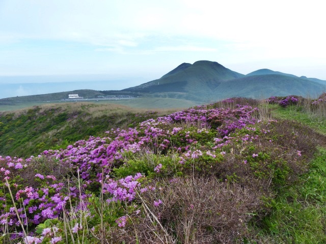
[[[31,83],[6,83],[0,78],[0,99],[40,95],[49,93],[69,92],[79,89],[92,90],[121,90],[139,85],[144,81],[135,80],[107,80],[107,81],[70,81],[70,82],[31,82]]]

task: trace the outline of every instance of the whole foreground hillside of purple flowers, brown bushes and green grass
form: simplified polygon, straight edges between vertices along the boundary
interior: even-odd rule
[[[325,106],[228,99],[1,157],[0,243],[324,243],[324,137],[279,111]]]

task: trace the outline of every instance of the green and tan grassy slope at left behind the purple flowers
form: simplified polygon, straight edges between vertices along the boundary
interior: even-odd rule
[[[0,115],[0,155],[37,155],[63,142],[67,145],[112,128],[134,127],[144,119],[166,112],[156,109],[156,113],[148,113],[119,104],[86,102],[4,112]]]

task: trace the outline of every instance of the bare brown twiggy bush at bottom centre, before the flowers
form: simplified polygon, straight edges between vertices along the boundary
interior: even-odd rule
[[[252,215],[248,213],[262,207],[261,192],[215,177],[165,180],[156,187],[138,199],[148,207],[142,219],[131,216],[124,229],[110,233],[117,243],[136,243],[136,239],[139,243],[241,242],[250,235],[246,225]],[[162,204],[154,206],[158,199]]]

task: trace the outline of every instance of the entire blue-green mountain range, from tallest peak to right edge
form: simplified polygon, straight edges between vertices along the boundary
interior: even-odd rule
[[[319,82],[318,82],[319,81]],[[269,69],[243,75],[216,62],[183,63],[161,78],[124,89],[147,97],[212,102],[229,97],[317,96],[326,81],[297,77]]]

